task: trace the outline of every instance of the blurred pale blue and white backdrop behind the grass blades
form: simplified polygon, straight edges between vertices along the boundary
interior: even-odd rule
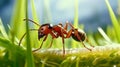
[[[118,16],[118,0],[109,0],[114,13]],[[10,21],[15,0],[0,0],[0,17],[5,26]],[[32,19],[30,1],[28,3],[29,18]],[[41,23],[58,24],[65,21],[74,21],[74,0],[35,0],[38,19]],[[79,23],[84,24],[86,32],[96,32],[97,27],[106,28],[111,25],[111,20],[104,0],[79,0]],[[89,30],[88,30],[89,29]]]

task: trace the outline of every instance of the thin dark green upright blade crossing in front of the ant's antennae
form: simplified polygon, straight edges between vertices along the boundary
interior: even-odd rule
[[[28,0],[25,1],[26,6],[26,19],[28,19]],[[33,61],[33,55],[31,50],[31,43],[30,43],[30,33],[29,33],[29,25],[28,20],[26,21],[26,44],[27,44],[27,53],[26,53],[26,59],[27,59],[27,67],[35,67],[34,61]]]

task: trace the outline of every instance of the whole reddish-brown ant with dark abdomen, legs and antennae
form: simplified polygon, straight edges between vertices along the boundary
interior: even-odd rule
[[[58,25],[52,25],[52,24],[49,24],[49,23],[39,25],[39,24],[37,24],[36,22],[34,22],[34,21],[30,20],[30,19],[24,19],[24,21],[25,20],[31,21],[34,24],[39,26],[39,29],[30,29],[30,31],[33,31],[33,30],[38,31],[38,40],[40,40],[40,38],[44,37],[40,47],[38,49],[36,49],[36,50],[33,50],[33,52],[41,49],[41,47],[43,45],[43,42],[46,41],[46,39],[48,37],[48,34],[50,34],[52,36],[52,41],[50,43],[50,47],[52,46],[53,39],[58,38],[58,37],[62,38],[63,55],[65,55],[64,39],[70,38],[71,36],[72,36],[72,38],[74,40],[82,42],[82,45],[85,48],[87,48],[88,50],[91,51],[91,49],[86,47],[84,45],[84,43],[83,43],[83,41],[85,39],[87,39],[86,38],[86,33],[83,30],[81,30],[81,29],[74,28],[74,26],[71,23],[66,22],[65,26],[63,26],[61,23],[59,23]],[[69,31],[67,31],[68,25],[71,27],[71,29]],[[26,33],[20,39],[19,46],[20,46],[21,41],[22,41],[22,39],[24,38],[25,35],[26,35]],[[90,46],[92,46],[92,45],[90,44]],[[94,47],[94,46],[92,46],[92,47]]]

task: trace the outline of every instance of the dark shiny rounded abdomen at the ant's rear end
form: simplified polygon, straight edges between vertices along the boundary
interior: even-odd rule
[[[75,33],[78,33],[78,35],[76,35]],[[72,38],[76,41],[84,41],[86,38],[86,34],[83,30],[81,29],[75,29],[72,32]]]

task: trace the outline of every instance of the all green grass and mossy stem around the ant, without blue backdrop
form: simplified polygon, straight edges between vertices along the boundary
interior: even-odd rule
[[[108,26],[105,32],[99,28],[100,33],[87,35],[92,45],[95,46],[92,51],[81,48],[80,42],[66,40],[66,55],[63,57],[61,38],[54,40],[52,48],[47,49],[51,36],[48,37],[42,49],[32,53],[31,49],[38,48],[41,41],[37,40],[37,32],[29,32],[28,21],[23,21],[24,18],[28,18],[27,0],[16,1],[13,18],[11,24],[8,25],[8,33],[0,19],[0,67],[120,67],[120,25],[108,0],[105,2],[113,26]],[[49,1],[46,3],[46,9],[49,8],[48,3]],[[80,28],[82,25],[78,24],[78,0],[75,0],[75,4],[73,25]],[[33,0],[31,0],[31,7],[33,20],[38,22]],[[49,10],[46,12],[46,14],[50,13]],[[38,27],[33,26],[33,28]],[[18,46],[25,32],[27,36],[23,39],[22,45]],[[85,45],[88,46],[89,43],[85,42]]]

